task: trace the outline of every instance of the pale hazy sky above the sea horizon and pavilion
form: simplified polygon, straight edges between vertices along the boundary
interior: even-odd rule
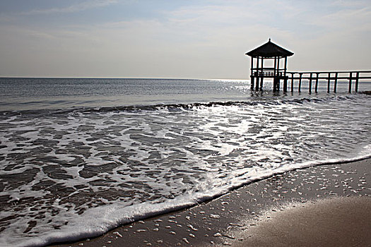
[[[371,70],[371,0],[1,0],[0,77],[249,79],[271,38],[288,71]]]

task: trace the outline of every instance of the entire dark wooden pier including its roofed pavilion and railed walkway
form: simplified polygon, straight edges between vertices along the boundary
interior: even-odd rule
[[[294,91],[295,82],[298,82],[298,92],[302,90],[302,83],[308,83],[309,93],[318,92],[319,83],[327,83],[327,92],[331,92],[331,82],[333,90],[336,92],[338,80],[348,80],[348,92],[352,92],[353,82],[354,91],[358,92],[360,80],[371,79],[371,71],[310,71],[310,72],[290,72],[287,71],[287,58],[293,56],[293,52],[288,51],[277,44],[268,42],[246,53],[251,56],[251,89],[261,90],[264,78],[273,78],[273,91],[280,90],[283,81],[283,92]],[[283,60],[280,64],[280,61]],[[270,64],[269,64],[270,62]],[[320,81],[321,80],[321,81]]]

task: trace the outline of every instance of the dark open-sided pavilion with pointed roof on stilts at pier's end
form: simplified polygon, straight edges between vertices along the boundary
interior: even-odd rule
[[[252,90],[254,89],[255,81],[255,88],[256,90],[259,90],[259,88],[263,88],[264,78],[273,78],[273,90],[280,90],[280,81],[283,80],[283,90],[287,91],[287,57],[293,56],[293,52],[289,52],[287,49],[279,47],[269,39],[268,42],[250,52],[247,52],[246,55],[251,56],[250,78]],[[274,60],[273,67],[264,67],[264,61],[269,59]],[[284,59],[283,66],[282,63],[280,65],[281,59]]]

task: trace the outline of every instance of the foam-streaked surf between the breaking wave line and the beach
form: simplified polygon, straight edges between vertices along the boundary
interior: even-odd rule
[[[356,95],[5,114],[0,245],[97,236],[273,174],[370,157],[370,109]]]

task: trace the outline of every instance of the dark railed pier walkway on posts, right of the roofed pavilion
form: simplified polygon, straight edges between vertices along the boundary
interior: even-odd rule
[[[294,82],[298,80],[298,91],[301,91],[302,80],[308,80],[309,92],[318,92],[319,80],[327,80],[327,92],[330,92],[331,80],[334,81],[334,92],[337,90],[338,80],[348,80],[348,92],[352,91],[352,83],[355,82],[355,92],[358,92],[358,85],[362,79],[371,79],[371,71],[316,71],[316,72],[286,72],[291,82],[291,92],[294,90]],[[283,90],[287,91],[287,82],[283,84]]]

